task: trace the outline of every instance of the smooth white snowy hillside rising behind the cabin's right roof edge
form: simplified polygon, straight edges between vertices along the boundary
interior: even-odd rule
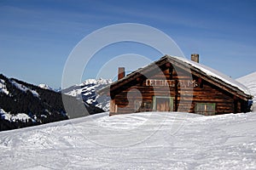
[[[256,101],[256,71],[247,76],[237,78],[236,81],[241,82],[249,88],[251,94],[254,96],[253,100]]]

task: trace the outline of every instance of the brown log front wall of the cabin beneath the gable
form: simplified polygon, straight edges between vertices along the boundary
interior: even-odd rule
[[[189,72],[172,65],[160,68],[161,71],[152,71],[111,91],[110,114],[153,111],[153,96],[172,97],[173,111],[194,113],[196,103],[214,103],[215,114],[242,111],[243,100],[205,81],[204,77],[191,77]],[[161,80],[167,80],[168,86]],[[142,106],[137,108],[137,103]]]

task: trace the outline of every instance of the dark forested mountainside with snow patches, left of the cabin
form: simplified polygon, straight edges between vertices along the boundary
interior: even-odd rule
[[[62,100],[68,107],[64,107]],[[0,131],[98,112],[102,110],[48,86],[38,87],[0,74]]]

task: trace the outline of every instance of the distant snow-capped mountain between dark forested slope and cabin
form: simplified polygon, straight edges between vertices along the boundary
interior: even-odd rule
[[[106,79],[88,79],[79,85],[62,90],[62,93],[71,95],[78,99],[83,99],[89,105],[95,105],[103,111],[109,111],[109,100],[107,95],[97,95],[96,91],[108,86],[112,80]]]

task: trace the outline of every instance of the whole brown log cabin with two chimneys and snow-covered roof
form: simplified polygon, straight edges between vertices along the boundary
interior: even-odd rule
[[[110,115],[142,111],[181,111],[202,115],[247,112],[253,96],[236,82],[206,65],[165,55],[161,59],[125,76],[99,94],[111,97]]]

